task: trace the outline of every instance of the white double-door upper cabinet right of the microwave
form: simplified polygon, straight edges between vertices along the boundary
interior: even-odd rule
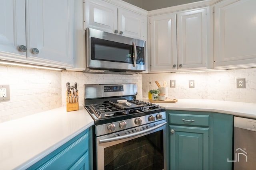
[[[149,18],[150,72],[208,68],[209,10],[205,7]]]

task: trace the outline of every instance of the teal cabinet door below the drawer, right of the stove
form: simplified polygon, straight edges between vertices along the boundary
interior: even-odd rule
[[[209,128],[170,125],[170,170],[209,169]]]

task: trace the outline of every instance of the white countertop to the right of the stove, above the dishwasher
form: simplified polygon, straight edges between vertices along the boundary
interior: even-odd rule
[[[166,107],[166,109],[169,110],[212,111],[256,119],[256,104],[253,103],[204,99],[178,99],[176,103],[156,104]]]

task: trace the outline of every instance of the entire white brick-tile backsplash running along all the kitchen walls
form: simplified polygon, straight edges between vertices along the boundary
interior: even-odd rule
[[[213,99],[256,103],[256,68],[219,72],[161,74],[85,74],[0,65],[0,84],[10,85],[10,101],[0,102],[0,123],[66,106],[66,82],[78,83],[79,104],[84,104],[84,84],[137,83],[137,98],[148,98],[148,82],[167,81],[170,98]],[[236,78],[246,78],[246,88],[236,88]],[[170,88],[176,80],[176,88]],[[188,88],[195,80],[195,88]]]

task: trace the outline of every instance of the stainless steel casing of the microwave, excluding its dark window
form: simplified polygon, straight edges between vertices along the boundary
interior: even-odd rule
[[[144,64],[133,64],[92,60],[91,59],[91,37],[98,39],[106,39],[108,41],[114,41],[117,43],[124,43],[132,45],[134,42],[136,46],[144,47],[144,54],[146,56],[145,41],[139,39],[132,39],[113,33],[107,33],[104,31],[87,28],[86,29],[86,70],[84,72],[104,73],[104,74],[136,74],[146,70],[146,62]],[[136,61],[134,62],[136,63]]]

